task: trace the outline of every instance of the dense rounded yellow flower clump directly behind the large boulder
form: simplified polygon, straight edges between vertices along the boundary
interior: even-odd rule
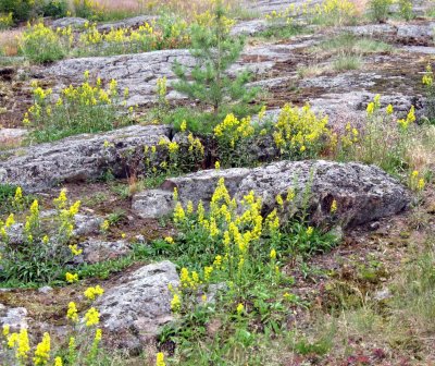
[[[282,155],[307,155],[316,151],[322,138],[330,136],[327,117],[319,118],[309,105],[285,105],[274,125],[273,138]]]

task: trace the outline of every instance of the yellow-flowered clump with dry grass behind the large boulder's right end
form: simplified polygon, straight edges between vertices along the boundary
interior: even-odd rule
[[[358,130],[350,123],[340,135],[334,137],[338,160],[357,160],[373,163],[388,173],[401,176],[414,191],[422,191],[424,176],[431,170],[434,158],[435,129],[418,125],[414,107],[407,117],[394,115],[393,106],[381,110],[381,96],[368,105],[366,123]],[[421,172],[419,172],[421,170]]]

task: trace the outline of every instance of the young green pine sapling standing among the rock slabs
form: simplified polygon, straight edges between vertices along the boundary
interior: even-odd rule
[[[249,102],[253,100],[257,88],[247,87],[250,80],[248,71],[239,72],[233,80],[227,74],[229,66],[240,57],[244,40],[240,37],[231,37],[229,30],[233,21],[225,16],[222,4],[217,2],[211,21],[204,25],[194,26],[191,54],[196,65],[188,72],[176,63],[174,72],[179,78],[173,84],[175,90],[201,102],[202,113],[186,118],[190,131],[210,131],[226,113],[237,115],[249,112]],[[175,121],[179,125],[182,121]]]

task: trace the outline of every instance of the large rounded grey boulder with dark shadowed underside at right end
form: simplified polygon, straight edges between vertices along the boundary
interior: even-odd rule
[[[265,215],[278,208],[275,199],[278,194],[286,197],[288,190],[295,190],[295,200],[279,209],[284,221],[301,213],[303,194],[310,192],[306,210],[310,222],[319,227],[363,224],[400,212],[410,203],[408,191],[377,167],[324,160],[279,161],[256,169],[201,171],[166,180],[160,195],[163,196],[161,191],[173,192],[176,187],[182,204],[202,200],[207,205],[220,178],[225,179],[229,194],[237,202],[250,191],[259,195]],[[173,203],[167,203],[167,196],[158,202],[151,193],[138,194],[134,198],[133,207],[137,212],[150,217],[152,207],[157,205],[160,212],[166,207],[165,213],[170,213]],[[334,200],[337,211],[332,215]]]

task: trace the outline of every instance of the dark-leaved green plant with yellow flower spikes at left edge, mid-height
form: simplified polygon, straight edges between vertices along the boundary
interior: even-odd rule
[[[1,280],[48,283],[60,276],[74,255],[80,254],[76,245],[70,244],[80,203],[67,207],[65,191],[62,191],[54,205],[57,213],[49,220],[41,218],[35,199],[23,224],[15,222],[13,213],[4,222],[0,221]]]

